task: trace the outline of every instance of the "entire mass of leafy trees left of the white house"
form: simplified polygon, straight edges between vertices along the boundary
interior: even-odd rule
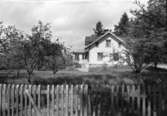
[[[51,42],[50,28],[50,24],[39,21],[33,26],[32,33],[28,35],[14,26],[1,24],[0,61],[4,62],[7,69],[17,69],[18,73],[20,69],[26,69],[29,82],[36,69],[47,67],[47,69],[53,69],[54,73],[57,72],[58,65],[67,63],[70,53],[67,55],[67,49],[59,41]]]

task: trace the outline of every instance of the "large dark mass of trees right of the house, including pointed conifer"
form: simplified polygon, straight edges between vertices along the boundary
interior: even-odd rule
[[[133,46],[129,44],[127,55],[134,61],[130,63],[133,70],[140,72],[139,70],[145,68],[144,65],[153,63],[156,67],[158,63],[165,62],[167,57],[165,53],[167,3],[165,0],[149,0],[146,7],[136,0],[136,4],[139,9],[131,10],[134,18],[128,21],[124,14],[115,27],[115,33],[130,38],[127,43],[133,41],[131,43]]]

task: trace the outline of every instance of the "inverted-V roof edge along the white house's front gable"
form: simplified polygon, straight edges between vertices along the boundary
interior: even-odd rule
[[[114,40],[116,40],[117,42],[119,42],[120,44],[126,46],[125,42],[124,42],[121,38],[117,37],[117,36],[116,36],[114,33],[112,33],[111,31],[107,31],[105,34],[103,34],[103,35],[101,35],[100,37],[98,37],[95,41],[93,41],[93,42],[91,42],[90,44],[88,44],[88,45],[85,47],[85,49],[88,49],[88,48],[92,47],[92,46],[95,45],[97,42],[99,42],[99,41],[105,39],[105,37],[108,36],[108,35],[112,36],[112,38],[113,38]]]

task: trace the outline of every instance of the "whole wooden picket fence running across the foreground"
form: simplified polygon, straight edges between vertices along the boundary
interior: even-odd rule
[[[0,84],[0,116],[162,116],[165,87]]]

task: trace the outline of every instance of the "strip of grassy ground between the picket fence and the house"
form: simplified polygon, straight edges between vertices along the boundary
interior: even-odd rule
[[[148,68],[141,74],[135,74],[129,67],[113,67],[91,72],[77,70],[61,70],[56,75],[52,71],[34,71],[31,82],[34,84],[62,84],[62,83],[167,83],[167,70]],[[2,83],[28,83],[25,70],[20,71],[19,77],[14,70],[1,70]]]

